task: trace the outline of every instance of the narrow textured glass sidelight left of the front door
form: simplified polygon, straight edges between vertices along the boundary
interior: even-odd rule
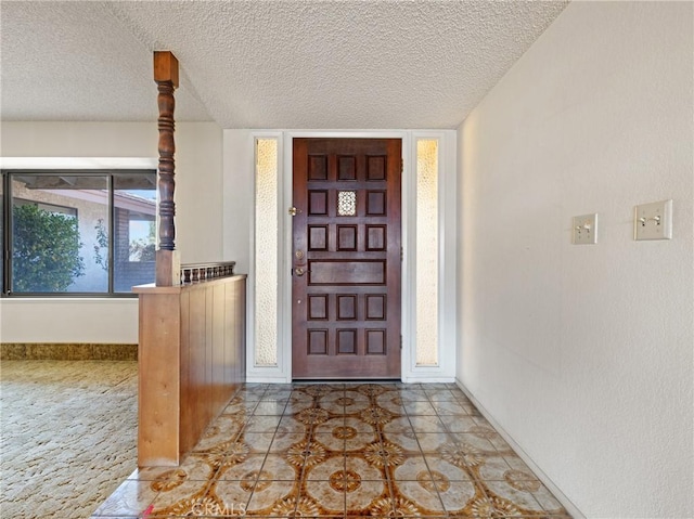
[[[255,365],[278,364],[278,141],[256,143]]]

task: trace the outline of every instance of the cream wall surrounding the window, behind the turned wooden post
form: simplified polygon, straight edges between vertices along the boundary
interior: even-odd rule
[[[5,158],[158,156],[156,121],[4,121],[0,137]],[[231,260],[222,256],[222,131],[213,122],[178,122],[176,146],[176,247],[181,261]],[[111,300],[92,307],[76,299],[31,301],[37,303],[0,300],[0,341],[138,340],[137,300]]]

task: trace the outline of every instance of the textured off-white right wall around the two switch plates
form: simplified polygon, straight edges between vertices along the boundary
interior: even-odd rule
[[[588,517],[694,517],[693,7],[571,2],[460,128],[458,377]]]

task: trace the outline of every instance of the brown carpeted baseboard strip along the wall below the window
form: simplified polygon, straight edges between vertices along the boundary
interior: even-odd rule
[[[137,361],[138,345],[2,342],[2,361]]]

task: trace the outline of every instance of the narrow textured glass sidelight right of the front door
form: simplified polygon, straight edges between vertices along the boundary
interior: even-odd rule
[[[416,365],[438,365],[438,141],[416,143]]]

